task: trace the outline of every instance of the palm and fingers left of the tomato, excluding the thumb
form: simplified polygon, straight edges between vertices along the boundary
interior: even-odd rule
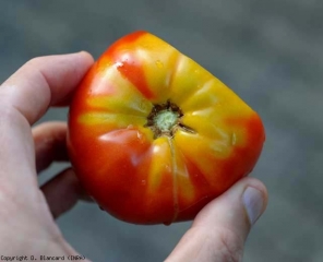
[[[36,58],[0,86],[0,254],[76,254],[53,217],[82,195],[67,169],[38,187],[37,174],[53,160],[68,160],[67,126],[34,124],[50,106],[68,104],[93,64],[86,52]]]

